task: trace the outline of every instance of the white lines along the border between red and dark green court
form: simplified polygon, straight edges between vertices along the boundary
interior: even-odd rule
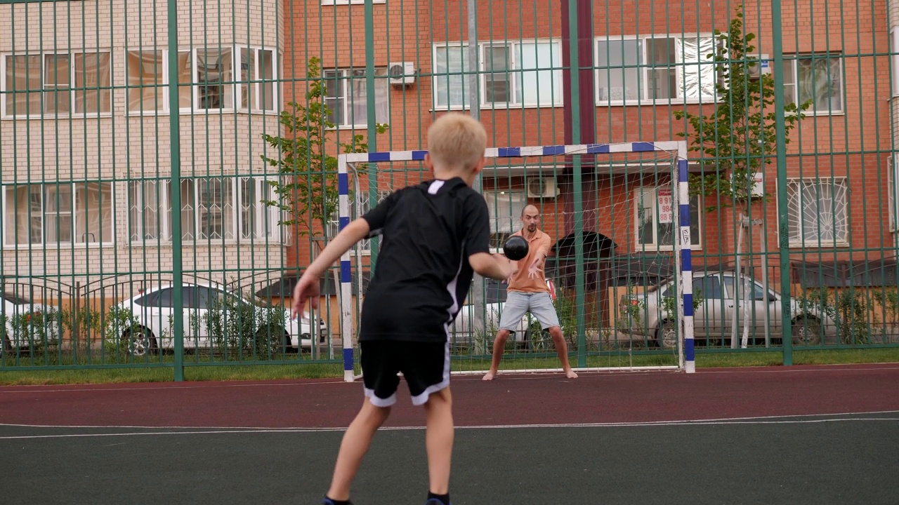
[[[649,426],[717,426],[726,424],[808,424],[821,422],[840,422],[840,421],[899,421],[899,417],[889,418],[866,418],[866,417],[832,417],[826,419],[797,419],[797,418],[823,418],[824,416],[863,416],[874,414],[899,413],[899,411],[879,411],[879,412],[843,412],[843,413],[827,413],[827,414],[797,414],[797,415],[779,415],[779,416],[762,416],[762,417],[743,417],[743,418],[720,418],[706,420],[683,420],[683,421],[642,421],[642,422],[576,422],[576,423],[558,423],[558,424],[500,424],[500,425],[473,425],[473,426],[457,426],[457,430],[497,430],[497,429],[522,429],[522,428],[639,428]],[[0,424],[0,426],[20,427],[20,428],[56,428],[56,429],[76,429],[76,428],[93,428],[93,429],[155,429],[160,427],[140,427],[140,426],[47,426],[33,424]],[[345,431],[345,427],[323,427],[323,428],[198,428],[198,427],[165,427],[169,430],[191,430],[191,431],[133,431],[125,433],[69,433],[59,435],[19,435],[0,437],[0,440],[6,439],[66,439],[80,437],[122,437],[122,436],[139,436],[139,435],[209,435],[218,433],[316,433],[316,432],[334,432]],[[391,426],[382,427],[384,431],[412,431],[424,430],[423,426]]]

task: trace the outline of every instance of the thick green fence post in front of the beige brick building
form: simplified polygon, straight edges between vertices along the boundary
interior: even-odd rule
[[[178,54],[178,2],[168,0],[169,55]],[[169,58],[169,141],[172,163],[172,305],[183,313],[182,290],[182,231],[181,231],[181,117],[178,96],[178,58]],[[184,318],[173,317],[174,380],[184,380]]]

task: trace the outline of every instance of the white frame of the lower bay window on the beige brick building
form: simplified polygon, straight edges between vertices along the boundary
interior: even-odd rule
[[[280,209],[274,207],[268,207],[263,204],[261,201],[255,201],[253,205],[253,212],[256,218],[257,223],[262,223],[263,233],[260,233],[260,230],[256,230],[254,235],[251,237],[243,236],[243,185],[241,181],[244,179],[252,179],[254,184],[256,185],[257,190],[265,190],[266,199],[275,199],[274,190],[271,188],[271,185],[268,183],[270,181],[275,180],[275,177],[270,176],[262,176],[262,175],[223,175],[223,176],[215,176],[215,177],[182,177],[181,182],[191,181],[191,192],[192,192],[192,212],[193,219],[192,226],[193,229],[190,231],[190,235],[193,238],[183,238],[183,244],[236,244],[238,242],[265,242],[268,241],[271,244],[288,244],[288,238],[284,233],[283,226],[279,225],[279,222],[282,220]],[[200,180],[218,180],[218,181],[230,181],[231,186],[231,198],[228,203],[231,205],[231,213],[232,213],[232,223],[233,229],[230,230],[232,236],[234,238],[197,238],[200,234],[200,210],[198,202],[200,201]],[[140,182],[141,184],[145,183]],[[171,181],[169,180],[157,180],[159,194],[159,208],[156,210],[156,220],[158,222],[158,237],[156,239],[138,239],[132,240],[131,236],[133,235],[132,226],[135,226],[135,223],[131,222],[130,218],[130,209],[131,209],[131,191],[129,189],[129,185],[131,182],[126,184],[125,195],[128,201],[127,208],[129,209],[129,217],[127,219],[128,230],[127,235],[129,243],[132,245],[142,245],[142,244],[171,244],[173,236],[172,236],[172,203],[170,200],[171,193]],[[143,191],[139,193],[143,195]],[[141,196],[141,198],[143,198]],[[141,202],[142,203],[142,202]],[[222,202],[223,206],[226,202]],[[186,205],[187,201],[182,198],[182,205]],[[143,207],[142,207],[143,208]],[[265,224],[267,223],[267,224]],[[137,224],[139,226],[139,223]],[[142,231],[142,230],[141,230]],[[182,228],[182,235],[184,235],[185,230]],[[223,233],[226,230],[223,228]],[[142,235],[142,234],[141,234]]]

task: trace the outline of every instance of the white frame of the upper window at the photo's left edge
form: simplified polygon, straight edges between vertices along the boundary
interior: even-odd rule
[[[75,104],[76,104],[76,86],[75,86],[75,77],[76,77],[76,65],[75,65],[75,55],[97,55],[97,54],[108,54],[110,58],[110,82],[105,84],[110,86],[110,102],[109,102],[109,111],[108,112],[75,112]],[[12,94],[3,94],[2,98],[0,98],[0,119],[4,120],[29,120],[29,119],[41,119],[41,118],[111,118],[112,117],[112,102],[115,93],[112,93],[112,81],[113,75],[115,75],[115,58],[113,58],[113,52],[110,49],[70,49],[68,51],[45,51],[40,52],[38,55],[33,54],[19,54],[12,52],[3,52],[0,53],[0,91],[9,91],[7,89],[6,83],[6,58],[14,58],[17,56],[40,56],[40,86],[42,90],[47,90],[46,84],[44,84],[44,78],[46,75],[47,69],[47,57],[52,55],[67,55],[69,58],[69,73],[68,79],[69,84],[69,111],[67,112],[44,112],[44,100],[43,94],[47,93],[47,91],[41,91],[41,101],[40,101],[40,112],[37,114],[19,114],[12,115],[8,114],[6,111],[6,99],[7,97],[12,100]],[[91,91],[88,88],[86,91]],[[99,102],[98,102],[99,103]]]

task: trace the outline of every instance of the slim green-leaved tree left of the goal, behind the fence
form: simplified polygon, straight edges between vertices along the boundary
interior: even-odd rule
[[[316,227],[327,229],[328,220],[337,211],[337,157],[330,135],[336,133],[331,111],[325,104],[327,85],[321,75],[320,60],[309,59],[307,66],[306,104],[289,102],[289,110],[281,111],[283,135],[263,134],[276,155],[261,155],[263,162],[276,167],[280,177],[269,182],[275,198],[263,200],[269,207],[280,209],[281,226],[290,226],[298,235],[312,234]],[[378,133],[387,125],[377,124]],[[364,153],[369,149],[365,138],[356,134],[349,143],[339,143],[343,153]]]

